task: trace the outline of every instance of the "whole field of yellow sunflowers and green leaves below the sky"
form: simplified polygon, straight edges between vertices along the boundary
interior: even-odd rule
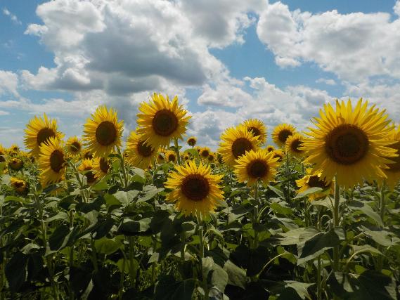
[[[400,127],[359,100],[305,132],[249,119],[219,148],[177,97],[82,137],[34,117],[0,146],[2,299],[399,299]]]

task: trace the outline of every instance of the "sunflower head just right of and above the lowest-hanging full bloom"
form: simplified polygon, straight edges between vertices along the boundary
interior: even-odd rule
[[[278,166],[278,158],[273,157],[273,152],[250,150],[236,159],[235,173],[239,182],[247,181],[247,186],[252,186],[258,180],[263,183],[273,180]]]

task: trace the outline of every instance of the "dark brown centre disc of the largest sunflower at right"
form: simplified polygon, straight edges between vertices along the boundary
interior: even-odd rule
[[[338,164],[359,162],[366,156],[368,145],[366,133],[351,124],[337,126],[325,138],[325,150]]]

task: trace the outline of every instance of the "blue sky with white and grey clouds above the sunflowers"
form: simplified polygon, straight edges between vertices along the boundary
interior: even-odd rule
[[[44,112],[81,136],[98,105],[127,137],[154,92],[214,150],[245,119],[305,130],[336,98],[398,123],[399,18],[400,0],[0,0],[0,143]]]

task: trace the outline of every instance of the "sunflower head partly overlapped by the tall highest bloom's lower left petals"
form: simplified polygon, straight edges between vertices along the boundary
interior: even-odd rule
[[[127,151],[129,162],[141,169],[148,168],[155,157],[154,148],[145,143],[135,131],[132,131],[128,138]]]

